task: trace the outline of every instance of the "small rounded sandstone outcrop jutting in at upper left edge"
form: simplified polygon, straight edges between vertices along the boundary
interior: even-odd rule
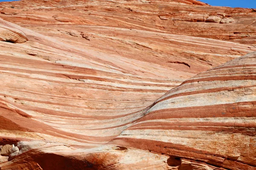
[[[17,43],[26,42],[28,38],[18,28],[18,26],[13,27],[0,18],[0,41],[9,41]]]

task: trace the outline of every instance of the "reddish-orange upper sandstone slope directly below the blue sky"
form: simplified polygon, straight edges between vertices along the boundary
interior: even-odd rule
[[[67,25],[79,34],[88,27],[118,27],[256,45],[255,10],[196,0],[22,0],[0,8],[3,19],[41,33],[56,35]],[[91,33],[93,39],[102,32]]]

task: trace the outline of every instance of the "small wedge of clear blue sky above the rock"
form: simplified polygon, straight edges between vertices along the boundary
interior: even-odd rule
[[[242,8],[256,8],[256,0],[200,0],[211,6],[229,6]]]

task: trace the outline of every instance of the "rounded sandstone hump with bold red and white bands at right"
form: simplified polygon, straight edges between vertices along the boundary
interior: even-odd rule
[[[256,52],[186,80],[109,144],[180,160],[188,170],[256,167]],[[182,167],[182,168],[181,168]],[[186,169],[185,168],[185,169]]]

